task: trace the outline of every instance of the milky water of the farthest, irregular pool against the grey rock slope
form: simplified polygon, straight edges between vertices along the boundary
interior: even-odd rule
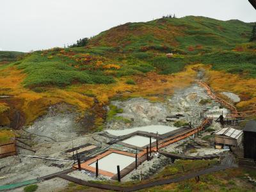
[[[146,131],[146,132],[153,132],[158,134],[164,134],[166,132],[174,131],[176,129],[179,129],[178,127],[169,127],[169,126],[164,126],[164,125],[148,125],[144,127],[134,127],[131,129],[123,129],[123,130],[113,130],[113,129],[108,129],[106,130],[109,132],[109,134],[113,134],[115,136],[122,136],[125,134],[130,134],[132,132],[136,131]]]

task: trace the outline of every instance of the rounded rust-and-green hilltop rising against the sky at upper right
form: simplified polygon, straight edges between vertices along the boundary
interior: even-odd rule
[[[207,17],[163,18],[150,22],[127,23],[92,38],[90,45],[138,50],[143,46],[232,46],[248,42],[252,23],[221,21]]]

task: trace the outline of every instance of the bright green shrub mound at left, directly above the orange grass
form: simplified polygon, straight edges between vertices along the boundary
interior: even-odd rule
[[[72,63],[72,61],[69,61]],[[68,65],[68,60],[61,60],[57,56],[49,59],[34,53],[22,61],[14,63],[18,69],[23,70],[28,77],[24,86],[67,86],[72,83],[114,83],[111,76],[104,76],[102,72],[88,72],[78,70]]]

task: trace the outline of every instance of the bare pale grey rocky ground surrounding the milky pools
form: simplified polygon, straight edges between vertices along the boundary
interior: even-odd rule
[[[175,122],[163,122],[163,120],[165,120],[166,116],[176,115],[177,113],[184,115],[179,121],[191,122],[192,126],[196,127],[202,122],[200,113],[205,116],[218,116],[222,111],[228,113],[227,109],[220,108],[220,104],[210,100],[204,89],[198,86],[198,84],[192,84],[184,90],[177,90],[165,102],[150,102],[147,99],[134,98],[125,101],[113,101],[111,104],[123,109],[123,113],[118,113],[118,116],[129,119],[129,123],[122,120],[110,120],[106,123],[106,129],[129,129],[143,125],[173,126]],[[107,144],[110,141],[108,136],[104,136],[101,133],[84,134],[83,125],[77,123],[78,115],[70,106],[60,104],[59,106],[49,108],[49,113],[38,118],[35,124],[28,128],[24,127],[25,131],[20,131],[19,133],[24,136],[31,136],[31,141],[29,142],[33,145],[32,148],[36,152],[19,148],[19,156],[0,159],[0,185],[35,179],[36,177],[42,177],[70,168],[73,163],[72,158],[65,151],[72,148],[72,146],[77,147],[86,143],[92,143],[99,147],[97,152],[110,147]],[[211,128],[218,130],[220,125],[213,124]],[[212,147],[211,140],[202,140],[204,136],[209,134],[210,132],[205,132],[199,138],[179,141],[164,148],[164,150],[188,153],[190,155],[215,153],[217,151]],[[118,145],[111,147],[124,149],[124,147]],[[198,153],[190,153],[189,150],[191,148],[196,148]],[[200,148],[204,148],[204,150]],[[125,150],[132,152],[129,148],[125,148]],[[28,157],[28,155],[70,161],[38,159]],[[170,162],[166,157],[154,157],[152,161],[141,164],[138,170],[134,170],[125,176],[124,180],[146,179],[168,163]],[[92,173],[72,172],[70,174],[77,178],[83,177],[85,180],[95,179]],[[106,178],[100,177],[99,179]],[[48,188],[65,188],[67,184],[68,182],[62,179],[47,180],[38,184],[38,190],[47,191]],[[48,188],[45,186],[48,186]],[[17,189],[17,191],[20,189]]]

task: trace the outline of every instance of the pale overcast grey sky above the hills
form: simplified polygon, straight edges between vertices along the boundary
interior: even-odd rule
[[[170,13],[256,21],[247,0],[0,0],[0,50],[63,47],[125,22]]]

